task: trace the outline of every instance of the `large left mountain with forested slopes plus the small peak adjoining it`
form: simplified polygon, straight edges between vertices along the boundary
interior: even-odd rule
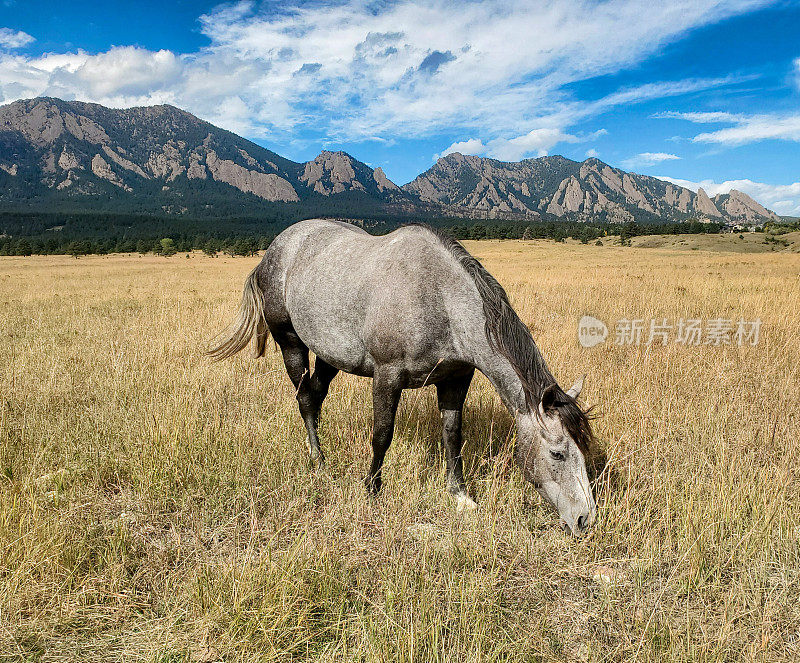
[[[0,205],[168,215],[407,203],[344,152],[295,163],[173,106],[109,109],[59,99],[0,107]]]

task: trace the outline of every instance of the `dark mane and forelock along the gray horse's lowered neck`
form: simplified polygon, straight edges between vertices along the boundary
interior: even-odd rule
[[[475,283],[483,301],[486,338],[489,340],[489,345],[503,355],[513,367],[522,383],[525,402],[530,410],[538,412],[542,395],[548,390],[548,400],[552,402],[552,407],[558,410],[564,428],[581,451],[586,453],[593,441],[589,413],[558,385],[550,369],[547,368],[530,330],[508,301],[503,286],[452,237],[425,224],[412,225],[432,233],[458,260]]]

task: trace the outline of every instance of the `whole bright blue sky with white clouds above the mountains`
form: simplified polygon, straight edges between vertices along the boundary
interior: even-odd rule
[[[800,2],[0,0],[0,103],[172,103],[402,184],[439,155],[598,156],[800,215]]]

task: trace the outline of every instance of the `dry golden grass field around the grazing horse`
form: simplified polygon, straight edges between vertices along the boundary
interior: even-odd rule
[[[279,355],[212,364],[255,258],[0,258],[0,661],[800,659],[800,258],[468,242],[608,465],[581,540],[513,465],[483,379],[456,513],[432,390],[369,500],[369,381],[312,473]],[[611,337],[577,342],[584,314]],[[763,321],[755,347],[617,346],[627,318]]]

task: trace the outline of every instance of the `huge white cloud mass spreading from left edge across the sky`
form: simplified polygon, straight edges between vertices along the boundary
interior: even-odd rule
[[[487,153],[519,158],[568,140],[578,119],[611,106],[730,84],[653,83],[588,104],[565,88],[767,2],[240,2],[201,17],[211,43],[196,53],[0,55],[0,101],[50,94],[112,106],[170,102],[249,136],[281,139],[455,129],[480,136]]]

